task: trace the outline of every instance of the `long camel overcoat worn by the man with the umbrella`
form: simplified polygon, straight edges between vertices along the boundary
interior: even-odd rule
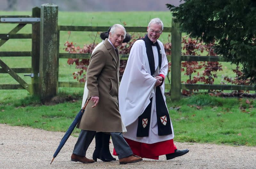
[[[92,53],[87,70],[88,98],[99,96],[96,107],[89,101],[77,128],[102,132],[123,132],[118,106],[119,53],[107,39]]]

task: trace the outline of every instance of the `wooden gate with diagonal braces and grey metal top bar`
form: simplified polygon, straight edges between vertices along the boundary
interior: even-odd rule
[[[0,84],[0,89],[26,89],[32,95],[39,94],[39,55],[40,55],[40,8],[32,9],[32,16],[0,16],[0,23],[18,24],[9,33],[0,34],[0,47],[9,39],[32,39],[32,51],[0,52],[0,57],[31,56],[31,67],[10,68],[0,59],[0,73],[8,73],[17,84]],[[32,33],[18,34],[25,25],[32,24]],[[30,73],[31,84],[24,81],[17,73]]]

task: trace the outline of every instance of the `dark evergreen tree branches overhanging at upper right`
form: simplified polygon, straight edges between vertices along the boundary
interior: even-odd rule
[[[184,0],[166,6],[182,32],[205,43],[216,40],[215,52],[242,64],[243,79],[256,85],[256,0]]]

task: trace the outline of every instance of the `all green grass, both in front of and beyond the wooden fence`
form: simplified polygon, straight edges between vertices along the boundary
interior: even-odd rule
[[[0,15],[31,15],[31,12],[0,11]],[[171,26],[170,12],[59,12],[59,25],[92,25],[110,26],[115,23],[126,26],[147,26],[150,18],[159,17],[165,26]],[[16,24],[0,24],[0,33],[8,33]],[[146,31],[146,30],[145,30]],[[31,25],[26,25],[18,33],[30,33]],[[96,32],[67,32],[60,34],[60,53],[64,52],[64,43],[69,40],[83,46],[92,43]],[[160,40],[168,41],[168,33],[161,35]],[[100,42],[101,39],[96,39]],[[31,51],[31,39],[11,39],[0,51]],[[31,67],[30,57],[0,57],[9,67]],[[218,72],[214,84],[220,84],[221,76],[234,77],[234,65],[222,62],[224,71]],[[68,65],[67,59],[60,59],[59,81],[75,81],[72,73],[74,65]],[[181,81],[187,76],[181,74]],[[19,74],[27,83],[30,77]],[[0,84],[18,84],[9,74],[0,74]],[[74,96],[70,102],[55,105],[42,105],[37,97],[32,97],[26,90],[0,90],[0,123],[29,126],[51,131],[65,131],[76,113],[80,110],[83,88],[59,88],[60,97]],[[253,92],[255,93],[255,92]],[[167,96],[169,109],[175,132],[175,141],[216,143],[231,145],[255,146],[256,111],[255,100],[219,98],[208,95],[184,97],[179,102],[171,102]],[[79,130],[75,130],[75,135]]]

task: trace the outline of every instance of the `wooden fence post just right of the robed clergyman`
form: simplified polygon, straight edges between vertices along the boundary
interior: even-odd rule
[[[181,32],[179,23],[172,18],[172,67],[171,67],[171,100],[180,100],[181,97]]]

